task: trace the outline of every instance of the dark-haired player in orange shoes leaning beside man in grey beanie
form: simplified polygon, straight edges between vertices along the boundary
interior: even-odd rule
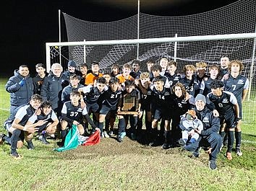
[[[239,105],[236,97],[231,92],[223,91],[224,83],[220,80],[213,80],[210,84],[212,92],[207,95],[207,104],[210,109],[213,109],[215,117],[221,117],[221,124],[225,121],[226,130],[228,133],[228,150],[226,158],[232,159],[231,151],[234,144],[234,128],[235,124],[241,119],[239,113]],[[221,137],[225,135],[224,130],[221,130]]]

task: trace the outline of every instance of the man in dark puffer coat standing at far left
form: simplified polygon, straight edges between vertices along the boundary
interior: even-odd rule
[[[10,93],[10,117],[14,117],[14,110],[21,105],[26,105],[33,95],[33,79],[26,65],[14,71],[14,76],[10,77],[5,85],[5,89]]]

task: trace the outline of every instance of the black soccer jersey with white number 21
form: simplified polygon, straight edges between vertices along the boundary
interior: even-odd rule
[[[111,88],[108,88],[108,90],[104,92],[101,96],[103,97],[102,103],[104,105],[114,107],[119,102],[119,98],[121,97],[121,91],[117,90],[116,92],[112,92]]]

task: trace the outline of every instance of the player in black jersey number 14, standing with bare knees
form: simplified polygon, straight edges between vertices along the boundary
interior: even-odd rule
[[[155,65],[154,65],[155,66]],[[157,136],[158,136],[158,121],[164,121],[164,143],[162,145],[163,149],[168,149],[171,147],[170,144],[170,102],[171,102],[171,90],[164,86],[163,76],[157,76],[153,79],[153,86],[151,87],[151,97],[152,97],[152,141],[150,146],[157,146]]]

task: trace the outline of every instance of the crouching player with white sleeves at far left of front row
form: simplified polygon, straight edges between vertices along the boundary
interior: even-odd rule
[[[33,133],[35,133],[40,125],[44,125],[46,121],[39,120],[37,123],[27,125],[27,121],[31,119],[33,115],[37,112],[40,104],[42,102],[42,97],[38,94],[33,94],[30,97],[29,105],[20,106],[17,108],[15,117],[10,119],[12,123],[6,124],[6,128],[12,136],[2,136],[4,141],[7,141],[11,145],[11,156],[14,159],[22,159],[22,156],[17,153],[17,148],[22,148],[23,141],[27,142],[27,148],[29,150],[34,149],[32,142]]]

